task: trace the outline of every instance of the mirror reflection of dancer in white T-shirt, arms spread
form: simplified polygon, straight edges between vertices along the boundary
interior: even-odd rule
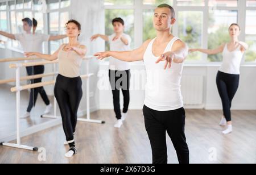
[[[53,40],[60,40],[66,38],[67,35],[59,35],[59,36],[50,36],[44,34],[36,34],[35,30],[37,27],[38,22],[30,18],[22,19],[23,22],[23,30],[24,34],[9,34],[3,31],[0,31],[0,35],[3,35],[12,40],[18,40],[22,45],[24,52],[43,52],[43,42],[44,41],[53,41]],[[31,33],[31,29],[33,28],[33,32]],[[32,61],[25,61],[25,62],[32,62]],[[36,75],[36,74],[43,74],[44,73],[44,65],[38,66],[28,66],[26,67],[28,76]],[[42,82],[42,78],[37,78],[35,80],[31,80],[31,84]],[[44,87],[37,87],[31,89],[30,91],[30,101],[28,103],[27,112],[20,116],[20,118],[28,118],[30,117],[31,110],[33,106],[36,104],[36,100],[38,99],[38,94],[42,97],[44,103],[46,104],[46,110],[44,114],[48,114],[51,112],[52,105],[47,97],[46,91]]]

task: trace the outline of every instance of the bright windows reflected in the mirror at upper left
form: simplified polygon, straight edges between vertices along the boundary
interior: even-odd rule
[[[39,0],[11,0],[0,3],[0,30],[19,34],[23,32],[23,18],[35,18],[38,21],[36,32],[39,34],[60,35],[64,34],[64,25],[69,19],[69,6],[71,0],[47,0],[46,6]],[[45,11],[46,10],[46,11]],[[48,25],[46,25],[48,24]],[[0,36],[1,40],[7,40]],[[18,41],[7,40],[10,48],[22,48]],[[56,51],[61,41],[49,43],[49,52]],[[46,50],[46,51],[47,51]]]

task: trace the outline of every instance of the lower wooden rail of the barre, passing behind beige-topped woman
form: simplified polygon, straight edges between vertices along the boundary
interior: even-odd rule
[[[93,76],[93,73],[90,74],[86,74],[86,75],[82,75],[80,76],[82,79],[88,78]],[[20,86],[19,88],[17,87],[11,87],[11,92],[16,92],[16,91],[22,91],[22,90],[27,90],[27,89],[34,89],[36,87],[43,87],[43,86],[48,86],[48,85],[54,85],[55,84],[55,80],[52,81],[47,81],[47,82],[39,82],[36,84],[30,84],[30,85],[24,85],[24,86]]]

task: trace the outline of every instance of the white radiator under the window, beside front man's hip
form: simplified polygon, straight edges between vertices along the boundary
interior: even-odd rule
[[[198,106],[204,102],[204,77],[183,76],[181,80],[181,93],[184,105]]]

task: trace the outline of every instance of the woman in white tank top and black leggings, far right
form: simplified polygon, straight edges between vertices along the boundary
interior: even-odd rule
[[[232,99],[237,92],[240,80],[240,65],[243,53],[248,48],[246,43],[238,40],[241,33],[238,24],[231,24],[229,27],[230,42],[222,44],[217,49],[190,49],[190,52],[203,52],[208,55],[214,55],[222,52],[223,61],[217,74],[217,87],[221,97],[224,117],[222,117],[220,125],[228,128],[223,131],[223,134],[232,132],[231,106]]]

